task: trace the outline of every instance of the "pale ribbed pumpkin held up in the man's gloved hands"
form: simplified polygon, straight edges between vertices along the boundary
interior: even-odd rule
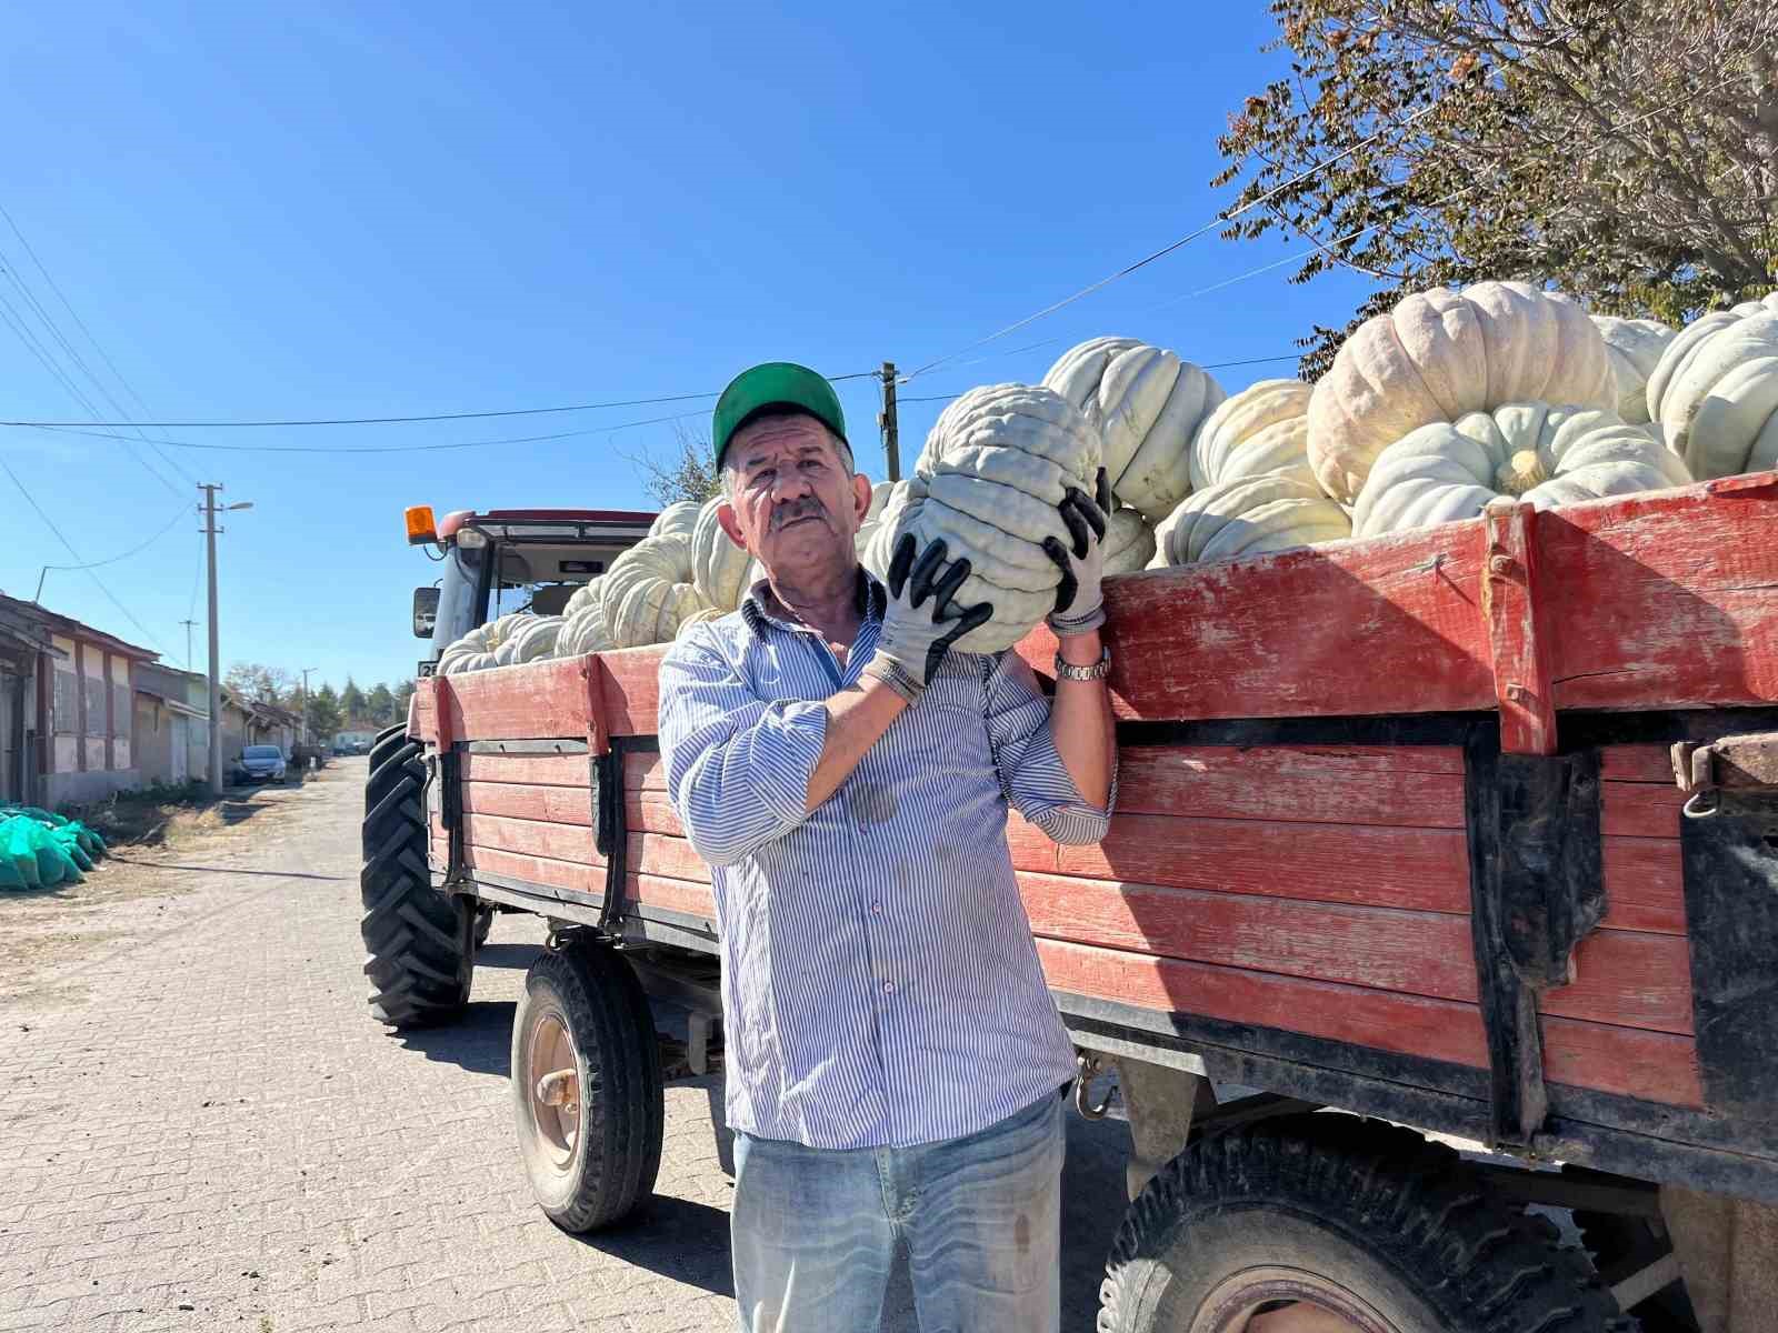
[[[903,533],[923,549],[942,539],[949,558],[971,563],[953,604],[994,606],[994,617],[957,647],[1012,647],[1056,606],[1061,571],[1042,540],[1072,540],[1056,507],[1070,487],[1092,494],[1097,432],[1058,393],[1026,384],[985,386],[939,414],[916,469],[925,494],[909,487],[885,549],[893,551]]]

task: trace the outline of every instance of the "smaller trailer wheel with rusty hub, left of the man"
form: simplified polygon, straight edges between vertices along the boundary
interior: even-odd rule
[[[629,963],[576,942],[525,974],[512,1018],[512,1109],[532,1193],[564,1232],[592,1232],[654,1191],[665,1095],[654,1018]]]

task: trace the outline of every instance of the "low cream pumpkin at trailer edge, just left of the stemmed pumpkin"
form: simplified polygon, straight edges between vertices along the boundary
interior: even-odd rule
[[[1351,519],[1310,476],[1236,476],[1193,491],[1156,530],[1150,569],[1293,551],[1351,537]]]

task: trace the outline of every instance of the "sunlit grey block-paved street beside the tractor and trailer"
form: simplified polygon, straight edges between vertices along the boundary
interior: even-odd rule
[[[637,1221],[576,1239],[532,1205],[507,1042],[541,922],[496,922],[466,1022],[372,1022],[361,773],[338,764],[251,839],[108,869],[174,896],[135,896],[0,1002],[0,1331],[733,1328],[711,1081],[667,1090]],[[1125,1152],[1122,1125],[1070,1116],[1063,1328],[1092,1326]],[[914,1328],[905,1278],[884,1328]]]

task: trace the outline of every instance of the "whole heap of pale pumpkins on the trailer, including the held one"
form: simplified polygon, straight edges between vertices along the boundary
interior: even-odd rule
[[[1314,386],[1232,396],[1173,352],[1095,338],[1042,384],[949,403],[912,475],[875,489],[859,558],[884,576],[901,533],[942,537],[971,562],[958,603],[996,608],[958,647],[1010,647],[1054,604],[1056,505],[1099,467],[1108,574],[1469,519],[1502,494],[1550,508],[1778,467],[1778,293],[1675,331],[1527,283],[1438,288],[1362,323]],[[718,503],[672,505],[564,617],[501,617],[439,668],[660,643],[734,610],[761,571]]]

